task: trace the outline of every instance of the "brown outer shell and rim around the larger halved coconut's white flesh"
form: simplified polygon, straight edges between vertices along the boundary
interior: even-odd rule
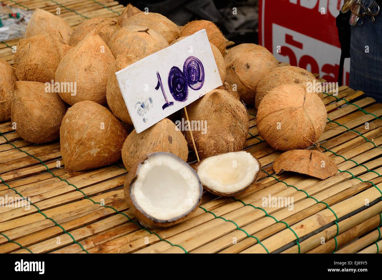
[[[198,203],[195,205],[193,210],[186,213],[186,215],[179,217],[177,219],[173,219],[171,221],[158,221],[153,217],[150,217],[147,215],[140,207],[139,205],[134,201],[134,197],[131,195],[131,187],[133,187],[133,183],[138,176],[139,168],[144,166],[145,161],[153,154],[156,153],[149,153],[148,155],[142,156],[136,163],[131,166],[129,173],[126,175],[125,184],[123,187],[124,193],[125,193],[125,199],[127,203],[127,207],[129,210],[131,210],[134,214],[134,216],[139,220],[139,222],[148,228],[168,228],[169,226],[176,225],[184,220],[186,220],[194,211],[199,207],[201,201],[202,201],[202,194],[203,191],[201,189],[201,195],[199,197]],[[196,174],[197,176],[197,174]],[[202,184],[200,183],[200,188],[202,188]]]

